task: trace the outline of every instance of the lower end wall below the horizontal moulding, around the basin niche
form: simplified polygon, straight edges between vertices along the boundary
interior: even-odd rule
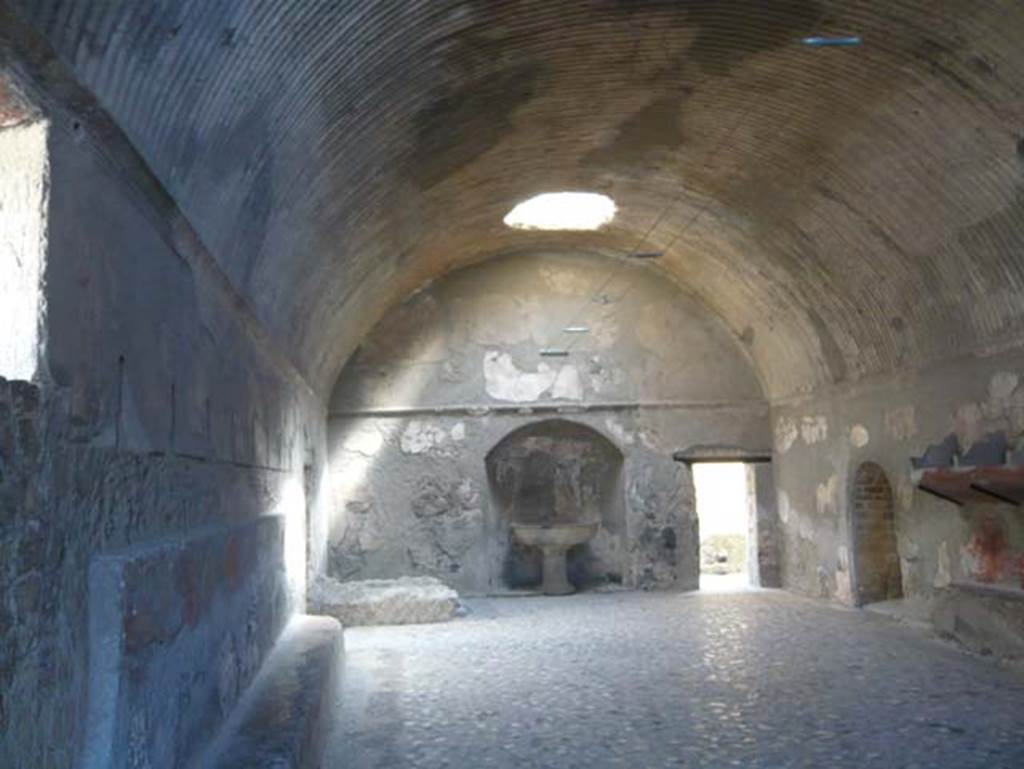
[[[429,418],[436,442],[415,452],[408,441],[402,448],[402,436],[420,432],[423,417],[333,418],[330,573],[340,580],[422,574],[464,593],[506,590],[502,567],[511,532],[484,458],[510,432],[560,418],[601,432],[624,455],[616,493],[625,532],[604,526],[593,543],[603,560],[617,563],[608,571],[630,587],[695,588],[692,481],[672,451],[711,436],[745,444],[759,437],[764,417],[763,410],[438,414]]]

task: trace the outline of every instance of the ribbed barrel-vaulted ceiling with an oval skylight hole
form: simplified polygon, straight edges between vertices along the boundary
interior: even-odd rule
[[[386,306],[535,247],[665,250],[776,397],[1024,333],[1019,0],[10,4],[325,392]],[[620,215],[503,226],[558,189]]]

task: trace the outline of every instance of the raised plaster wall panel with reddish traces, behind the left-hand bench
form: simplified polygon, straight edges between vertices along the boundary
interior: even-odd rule
[[[96,557],[89,769],[182,766],[252,682],[290,611],[284,521]]]

